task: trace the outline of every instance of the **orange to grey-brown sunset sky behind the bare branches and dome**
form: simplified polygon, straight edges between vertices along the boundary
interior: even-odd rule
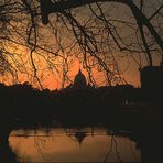
[[[144,1],[144,14],[150,17],[160,4],[161,0]],[[100,10],[98,10],[96,6],[91,7],[97,14],[100,14]],[[134,51],[142,50],[143,47],[138,45],[138,43],[141,44],[142,42],[131,11],[127,7],[117,3],[104,4],[101,8],[109,23],[116,26],[117,31],[113,31],[113,28],[111,30],[115,32],[115,35],[117,34],[116,37],[120,45],[123,45],[124,41],[127,46],[131,43],[131,48],[134,48]],[[13,11],[15,9],[13,9]],[[74,31],[78,39],[74,36],[70,20],[59,13],[50,14],[51,23],[47,25],[42,24],[40,15],[35,18],[37,47],[32,54],[33,45],[30,45],[29,42],[34,43],[34,29],[30,29],[32,26],[30,15],[25,12],[21,15],[13,13],[10,22],[6,24],[1,22],[0,26],[3,28],[1,28],[2,31],[0,32],[0,42],[3,55],[1,55],[0,58],[0,82],[7,85],[29,82],[39,88],[37,80],[34,78],[34,69],[36,69],[36,75],[43,88],[56,89],[62,87],[63,70],[67,70],[66,75],[69,78],[69,80],[65,83],[65,87],[70,84],[70,82],[73,83],[79,68],[82,68],[82,72],[88,79],[88,69],[86,70],[86,64],[88,64],[91,67],[95,82],[99,86],[106,85],[106,74],[101,66],[99,66],[99,61],[97,58],[95,59],[89,50],[89,47],[93,51],[96,48],[94,39],[91,39],[94,35],[96,42],[98,42],[98,52],[95,52],[95,55],[99,56],[99,59],[104,61],[107,68],[111,70],[118,66],[116,73],[119,72],[121,76],[134,87],[140,87],[139,68],[140,65],[141,67],[148,65],[146,54],[120,52],[116,47],[113,39],[107,33],[105,23],[101,23],[95,15],[91,15],[93,13],[88,6],[74,9],[70,14],[78,21],[79,25],[85,26],[89,36],[87,37],[88,47],[82,44],[84,42],[84,35],[79,33],[77,25],[74,24]],[[15,19],[17,17],[19,20]],[[160,25],[162,29],[161,17],[156,17],[156,19],[152,21],[155,23],[155,26]],[[153,63],[154,65],[160,65],[160,50],[157,45],[152,43],[153,39],[149,35],[146,29],[144,29],[144,33],[148,35],[149,45],[152,44],[151,48],[155,50],[152,52]],[[122,41],[119,40],[119,37],[121,37]],[[80,46],[78,45],[78,40],[82,42]],[[84,48],[87,51],[86,54]],[[87,62],[85,62],[85,55],[87,56]],[[33,58],[34,65],[31,57]],[[116,59],[116,62],[113,59]]]

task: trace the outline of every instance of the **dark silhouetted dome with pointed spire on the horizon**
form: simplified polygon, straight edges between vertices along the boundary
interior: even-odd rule
[[[75,76],[75,79],[74,79],[74,87],[84,88],[86,86],[87,86],[86,77],[79,69],[78,74]]]

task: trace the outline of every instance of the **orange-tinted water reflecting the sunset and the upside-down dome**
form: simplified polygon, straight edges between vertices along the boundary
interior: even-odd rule
[[[141,162],[134,142],[99,128],[17,130],[9,142],[20,163]]]

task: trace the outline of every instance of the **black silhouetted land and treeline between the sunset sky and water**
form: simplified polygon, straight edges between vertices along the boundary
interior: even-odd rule
[[[126,134],[142,163],[162,163],[162,97],[141,89],[80,89],[48,93],[1,86],[0,162],[17,162],[9,134],[18,129],[102,127]],[[115,91],[116,90],[116,91]],[[117,91],[119,90],[119,91]],[[123,91],[120,91],[123,90]],[[150,96],[149,96],[150,95]],[[6,161],[2,161],[6,160]]]

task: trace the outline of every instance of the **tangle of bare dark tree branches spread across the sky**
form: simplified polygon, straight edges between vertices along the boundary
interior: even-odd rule
[[[161,59],[162,9],[159,0],[1,1],[0,48],[12,65],[6,74],[15,77],[20,72],[42,87],[51,70],[63,78],[64,86],[77,57],[90,83],[96,84],[93,69],[102,72],[105,84],[124,83],[121,73],[128,66],[121,62],[132,58],[141,68]]]

